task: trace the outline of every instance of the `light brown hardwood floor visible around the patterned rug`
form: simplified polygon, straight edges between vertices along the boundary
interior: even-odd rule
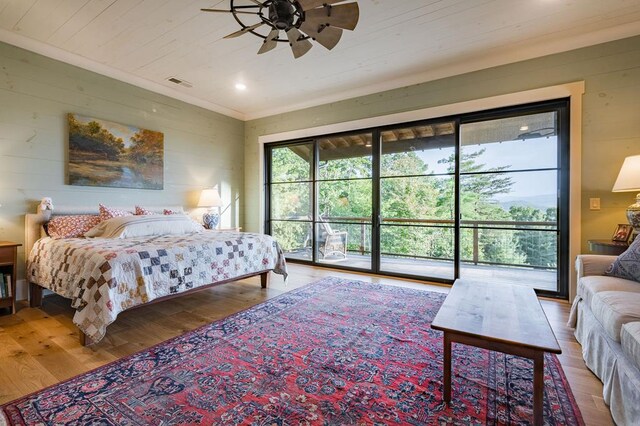
[[[301,287],[325,276],[447,292],[448,287],[409,280],[289,264],[289,282],[274,275],[268,289],[259,277],[213,287],[200,293],[120,314],[99,343],[82,347],[69,301],[44,298],[40,309],[19,306],[0,316],[0,404],[115,361],[211,321]],[[566,326],[569,305],[543,300],[542,306],[562,348],[562,367],[587,425],[612,425],[602,399],[602,384],[586,368],[573,330]]]

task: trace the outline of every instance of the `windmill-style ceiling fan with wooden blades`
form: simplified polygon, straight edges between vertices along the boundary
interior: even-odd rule
[[[360,17],[358,3],[336,5],[344,2],[345,0],[229,0],[229,10],[200,10],[233,14],[242,28],[225,38],[246,33],[258,36],[263,39],[258,54],[274,49],[278,42],[289,43],[293,56],[297,59],[313,47],[310,39],[331,50],[340,41],[343,29],[355,29]],[[245,24],[241,19],[245,15],[254,15],[257,22]],[[270,28],[269,33],[260,34],[257,30],[262,27]]]

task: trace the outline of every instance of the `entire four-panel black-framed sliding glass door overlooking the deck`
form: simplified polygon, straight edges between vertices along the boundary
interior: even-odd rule
[[[566,297],[568,149],[566,101],[268,145],[265,228],[295,261]]]

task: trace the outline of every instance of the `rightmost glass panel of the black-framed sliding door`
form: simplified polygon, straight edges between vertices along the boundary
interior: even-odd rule
[[[536,109],[460,126],[460,277],[559,293],[564,110]]]

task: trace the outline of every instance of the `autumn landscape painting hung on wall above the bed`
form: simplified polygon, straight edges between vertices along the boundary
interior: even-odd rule
[[[69,184],[162,189],[164,134],[69,114]]]

